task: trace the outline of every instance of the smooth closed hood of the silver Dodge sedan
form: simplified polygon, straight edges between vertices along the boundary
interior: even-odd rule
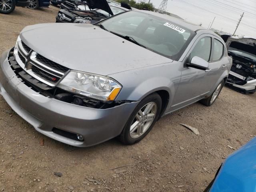
[[[32,50],[62,66],[94,74],[172,62],[91,24],[37,24],[25,27],[20,38]]]

